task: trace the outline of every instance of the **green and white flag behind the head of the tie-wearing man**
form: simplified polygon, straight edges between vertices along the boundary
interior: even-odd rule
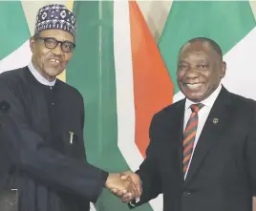
[[[225,88],[256,99],[255,26],[248,1],[175,1],[159,43],[175,84],[174,100],[183,97],[176,82],[178,52],[184,42],[198,36],[211,38],[221,46],[227,63]]]

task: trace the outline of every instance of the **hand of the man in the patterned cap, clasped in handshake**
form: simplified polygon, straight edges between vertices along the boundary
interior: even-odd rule
[[[109,174],[105,187],[119,198],[125,196],[129,199],[137,199],[139,197],[139,192],[136,185],[133,183],[133,180],[121,177],[121,174]]]

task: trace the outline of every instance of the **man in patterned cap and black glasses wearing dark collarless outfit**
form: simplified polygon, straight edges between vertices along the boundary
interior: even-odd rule
[[[75,49],[75,15],[43,7],[30,44],[31,64],[0,74],[0,191],[18,190],[19,211],[89,211],[104,187],[137,195],[86,161],[83,98],[56,78]]]

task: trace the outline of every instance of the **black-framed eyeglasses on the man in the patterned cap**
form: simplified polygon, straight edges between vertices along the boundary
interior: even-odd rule
[[[71,53],[75,49],[75,43],[70,41],[58,41],[53,37],[41,37],[41,36],[35,36],[34,39],[43,40],[45,47],[48,49],[55,49],[60,43],[61,50],[64,53]]]

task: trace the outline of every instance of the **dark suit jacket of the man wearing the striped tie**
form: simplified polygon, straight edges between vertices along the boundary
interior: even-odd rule
[[[256,184],[255,101],[222,88],[185,180],[184,104],[185,99],[174,103],[152,119],[151,141],[137,172],[143,184],[137,205],[162,193],[164,211],[251,211]]]

